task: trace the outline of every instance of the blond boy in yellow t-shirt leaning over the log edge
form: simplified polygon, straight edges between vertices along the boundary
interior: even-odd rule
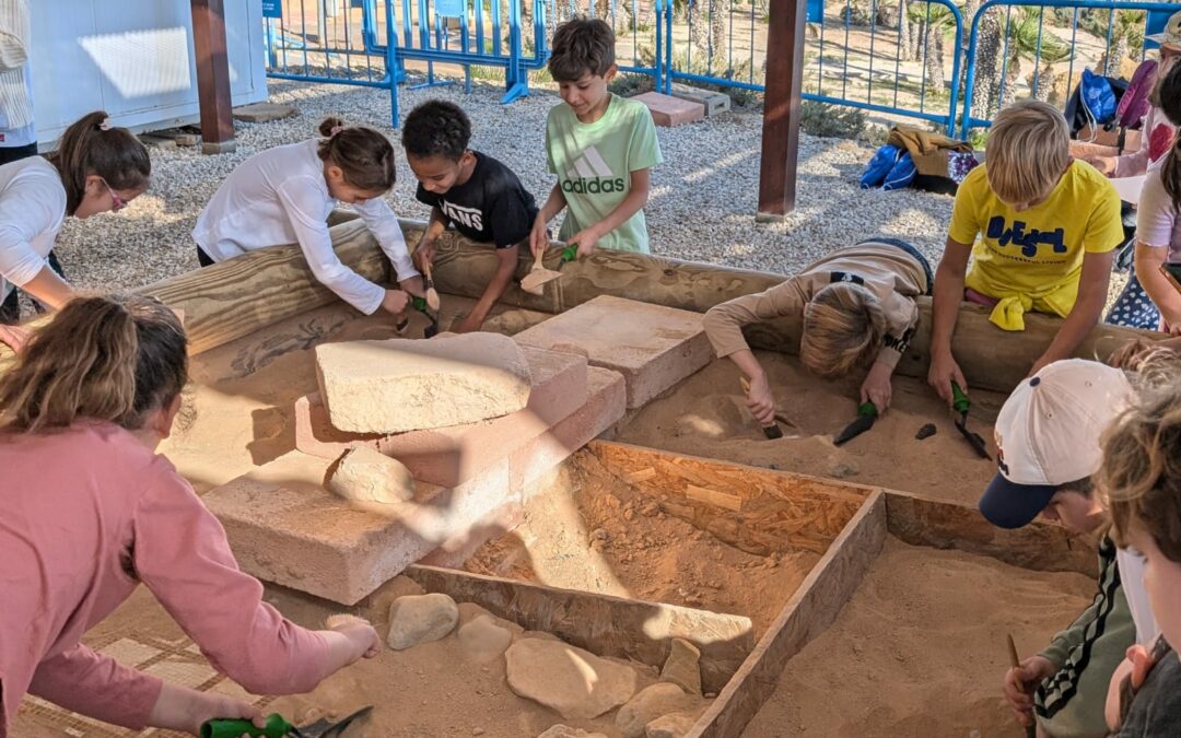
[[[1122,240],[1120,196],[1098,170],[1070,158],[1062,113],[1038,100],[1000,111],[985,165],[955,194],[935,270],[928,381],[939,396],[952,401],[952,381],[967,388],[952,357],[961,300],[992,307],[990,319],[1005,331],[1023,331],[1030,309],[1065,318],[1033,374],[1074,354],[1098,322]]]

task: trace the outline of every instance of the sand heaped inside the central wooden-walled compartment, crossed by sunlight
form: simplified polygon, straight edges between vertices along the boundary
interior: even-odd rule
[[[746,615],[762,634],[820,561],[805,550],[764,557],[723,543],[659,512],[588,451],[561,474],[557,491],[530,502],[526,522],[477,550],[469,572]]]

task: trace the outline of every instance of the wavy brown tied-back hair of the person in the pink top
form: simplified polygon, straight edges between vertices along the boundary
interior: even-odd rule
[[[184,387],[187,344],[176,314],[151,298],[71,300],[0,378],[4,430],[35,433],[84,418],[141,429]]]

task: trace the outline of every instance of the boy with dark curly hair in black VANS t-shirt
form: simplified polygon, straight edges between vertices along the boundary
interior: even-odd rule
[[[478,331],[516,272],[521,242],[528,242],[537,203],[513,170],[468,148],[471,123],[457,105],[428,100],[413,109],[402,129],[406,161],[418,178],[419,202],[431,205],[431,221],[415,249],[435,257],[435,241],[454,224],[461,234],[496,248],[500,264],[471,314],[452,328]]]

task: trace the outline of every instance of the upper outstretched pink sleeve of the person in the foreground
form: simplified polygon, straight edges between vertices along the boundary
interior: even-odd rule
[[[216,670],[255,694],[309,692],[328,675],[328,644],[262,601],[226,531],[178,476],[141,498],[135,569]]]

